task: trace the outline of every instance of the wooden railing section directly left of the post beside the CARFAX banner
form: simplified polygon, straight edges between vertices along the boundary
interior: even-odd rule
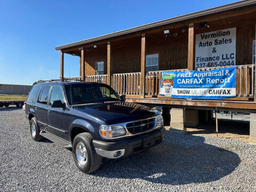
[[[140,94],[140,73],[113,74],[111,86],[118,94]]]

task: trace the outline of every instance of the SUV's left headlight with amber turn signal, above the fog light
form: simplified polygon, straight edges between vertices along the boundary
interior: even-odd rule
[[[126,131],[122,125],[101,125],[100,135],[103,138],[111,139],[125,135]]]

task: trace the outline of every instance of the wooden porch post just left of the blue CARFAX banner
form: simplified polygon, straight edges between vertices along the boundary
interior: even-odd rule
[[[145,98],[145,52],[146,52],[146,39],[145,34],[141,35],[141,66],[140,66],[140,97]]]

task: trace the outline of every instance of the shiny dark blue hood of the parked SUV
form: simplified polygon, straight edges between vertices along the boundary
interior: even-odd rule
[[[76,106],[75,108],[90,115],[98,116],[109,125],[145,119],[156,115],[154,111],[150,111],[152,110],[151,108],[132,102],[97,103]]]

